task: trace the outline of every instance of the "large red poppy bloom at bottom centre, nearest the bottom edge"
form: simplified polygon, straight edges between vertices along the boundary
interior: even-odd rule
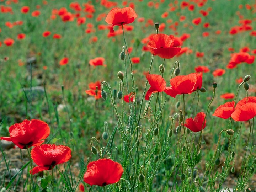
[[[87,165],[84,182],[89,185],[106,186],[116,183],[123,174],[123,167],[111,159],[99,159]]]

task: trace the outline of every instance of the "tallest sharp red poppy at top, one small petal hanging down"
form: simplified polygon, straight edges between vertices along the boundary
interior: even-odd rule
[[[137,17],[136,12],[131,7],[124,7],[124,8],[113,8],[107,14],[106,22],[111,26],[110,33],[114,32],[113,27],[115,25],[125,25],[132,23],[135,18]]]

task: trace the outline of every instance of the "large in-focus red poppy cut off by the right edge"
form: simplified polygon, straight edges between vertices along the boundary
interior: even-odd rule
[[[240,100],[235,111],[231,114],[231,118],[235,121],[247,121],[256,115],[256,97],[245,97]]]

